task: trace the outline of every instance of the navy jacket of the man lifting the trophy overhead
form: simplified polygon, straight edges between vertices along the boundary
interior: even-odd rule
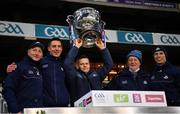
[[[113,61],[108,49],[102,50],[102,57],[104,59],[104,65],[96,71],[89,71],[87,74],[81,70],[77,70],[73,64],[75,57],[78,54],[79,49],[72,47],[67,54],[64,62],[64,68],[68,76],[68,82],[70,85],[69,91],[71,95],[71,105],[88,93],[90,90],[99,90],[102,86],[102,81],[106,77],[106,74],[113,67]]]

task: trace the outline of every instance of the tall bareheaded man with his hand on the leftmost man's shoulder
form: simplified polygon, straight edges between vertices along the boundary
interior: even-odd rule
[[[63,51],[61,40],[52,38],[48,44],[46,57],[41,61],[43,75],[43,102],[45,107],[64,107],[69,104],[69,93],[65,83],[63,62],[60,58]],[[8,65],[7,72],[16,69],[16,64]]]

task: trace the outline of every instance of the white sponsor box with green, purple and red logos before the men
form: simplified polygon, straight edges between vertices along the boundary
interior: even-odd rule
[[[89,98],[91,102],[87,102]],[[76,107],[89,106],[167,106],[162,91],[91,91],[77,100]]]

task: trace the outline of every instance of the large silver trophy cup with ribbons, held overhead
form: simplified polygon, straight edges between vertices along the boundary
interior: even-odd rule
[[[78,9],[73,15],[67,16],[70,28],[70,39],[83,39],[83,47],[95,46],[97,38],[103,38],[105,22],[101,20],[100,13],[91,7]]]

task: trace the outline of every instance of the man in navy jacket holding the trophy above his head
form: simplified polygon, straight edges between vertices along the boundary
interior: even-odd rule
[[[91,90],[99,90],[106,74],[113,67],[113,60],[107,48],[105,48],[101,40],[95,42],[96,46],[101,50],[104,60],[103,67],[96,71],[90,70],[90,62],[87,56],[80,56],[77,59],[76,68],[73,66],[75,57],[79,48],[82,46],[82,39],[76,39],[74,46],[70,49],[64,61],[64,68],[67,73],[70,85],[71,105]]]

